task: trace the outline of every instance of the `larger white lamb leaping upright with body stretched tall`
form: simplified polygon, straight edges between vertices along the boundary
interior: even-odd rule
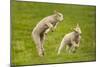
[[[32,38],[36,44],[37,52],[40,57],[44,56],[43,43],[49,31],[54,31],[57,24],[63,20],[63,14],[54,11],[53,15],[43,18],[33,29]]]

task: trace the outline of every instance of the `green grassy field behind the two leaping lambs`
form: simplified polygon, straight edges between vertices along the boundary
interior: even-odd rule
[[[64,15],[55,32],[50,32],[45,40],[46,55],[40,58],[31,32],[35,25],[45,16],[57,10]],[[96,60],[96,7],[70,4],[50,4],[15,2],[11,4],[11,63],[14,65],[68,63]],[[82,30],[80,48],[74,54],[66,53],[64,49],[57,56],[57,49],[63,36],[71,32],[79,23]]]

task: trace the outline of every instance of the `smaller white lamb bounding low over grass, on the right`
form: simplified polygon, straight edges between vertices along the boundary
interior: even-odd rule
[[[57,55],[60,54],[61,50],[65,46],[67,47],[69,53],[75,52],[76,49],[79,47],[80,39],[81,29],[79,27],[79,24],[77,24],[76,28],[73,29],[73,32],[66,34],[62,39]]]

